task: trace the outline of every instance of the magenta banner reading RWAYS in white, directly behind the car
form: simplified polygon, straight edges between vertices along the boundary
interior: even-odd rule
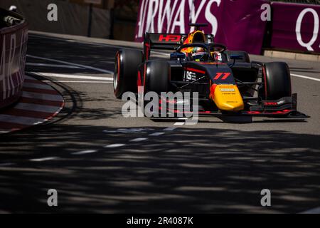
[[[230,50],[260,54],[266,21],[261,9],[265,0],[140,0],[136,37],[145,32],[188,33],[189,23],[206,23],[203,31]]]

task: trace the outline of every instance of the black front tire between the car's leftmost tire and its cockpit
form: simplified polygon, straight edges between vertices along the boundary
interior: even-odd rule
[[[147,66],[146,92],[169,91],[169,64],[166,61],[150,61]]]

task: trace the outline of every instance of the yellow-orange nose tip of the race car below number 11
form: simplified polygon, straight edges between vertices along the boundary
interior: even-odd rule
[[[220,110],[240,111],[245,108],[238,86],[235,85],[216,85],[213,101]]]

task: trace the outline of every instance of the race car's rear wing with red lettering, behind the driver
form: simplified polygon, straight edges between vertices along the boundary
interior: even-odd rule
[[[174,33],[145,33],[144,34],[144,59],[150,57],[151,49],[176,50],[183,43],[188,34]],[[205,35],[208,43],[213,43],[213,35]]]

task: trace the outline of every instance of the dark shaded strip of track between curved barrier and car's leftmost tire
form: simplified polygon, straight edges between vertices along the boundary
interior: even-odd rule
[[[52,40],[32,36],[28,40],[28,55],[42,58],[53,58],[58,61],[82,64],[85,66],[114,70],[114,56],[118,48],[97,46],[89,43],[77,43],[69,40]],[[70,51],[73,50],[73,51]],[[53,57],[54,56],[54,57]],[[27,56],[27,63],[61,64],[52,61],[39,60]],[[26,66],[26,71],[43,73],[97,74],[86,68],[52,68],[48,66]]]

